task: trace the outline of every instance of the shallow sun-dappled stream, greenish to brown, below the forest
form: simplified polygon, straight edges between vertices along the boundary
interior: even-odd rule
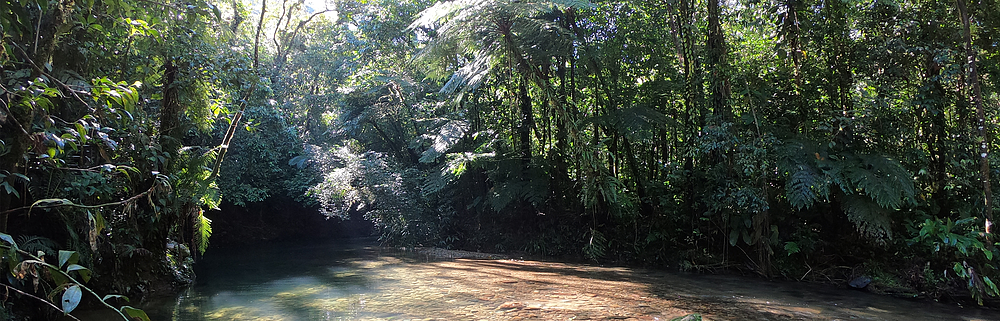
[[[159,320],[1000,320],[996,311],[730,276],[511,260],[428,261],[351,244],[207,253]],[[84,320],[111,320],[89,315]]]

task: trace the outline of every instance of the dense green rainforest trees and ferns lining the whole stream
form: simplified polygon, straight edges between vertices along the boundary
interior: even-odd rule
[[[99,290],[183,283],[211,210],[281,197],[391,244],[1000,295],[993,0],[0,1],[0,232]]]

